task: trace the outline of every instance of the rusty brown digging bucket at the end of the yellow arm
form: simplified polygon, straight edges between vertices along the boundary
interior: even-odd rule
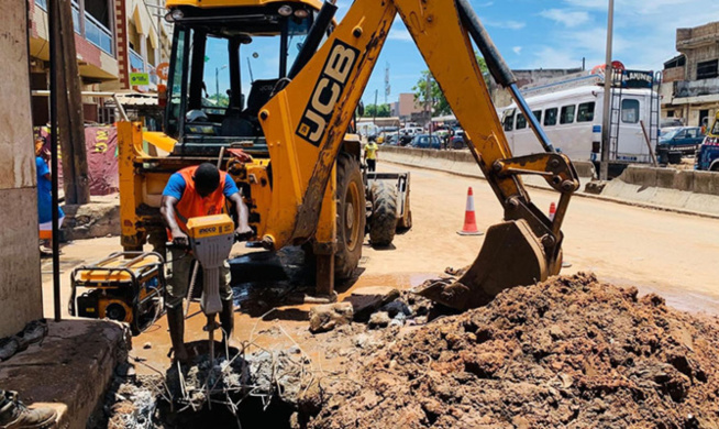
[[[458,310],[484,306],[500,292],[549,277],[542,244],[524,220],[489,227],[479,255],[456,282],[422,285],[414,293]]]

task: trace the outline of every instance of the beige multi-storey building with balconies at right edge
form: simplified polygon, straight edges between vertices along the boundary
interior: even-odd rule
[[[662,118],[708,125],[719,110],[719,22],[678,29],[676,50],[664,63]]]

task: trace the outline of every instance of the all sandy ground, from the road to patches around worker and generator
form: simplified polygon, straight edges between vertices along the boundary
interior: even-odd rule
[[[380,163],[379,169],[399,172],[408,168]],[[456,234],[464,219],[468,186],[474,188],[479,228],[486,229],[501,220],[500,206],[484,180],[418,168],[409,170],[412,174],[412,230],[397,235],[391,249],[375,250],[365,243],[361,274],[355,282],[340,286],[340,299],[361,286],[410,288],[438,276],[447,266],[462,267],[472,263],[484,238]],[[530,189],[530,194],[543,209],[547,209],[556,198],[556,194],[546,190]],[[642,294],[659,293],[679,309],[719,315],[719,222],[716,220],[577,197],[572,201],[563,231],[565,261],[572,263],[564,274],[593,271],[600,279],[635,285]],[[65,314],[71,267],[119,251],[119,238],[103,238],[77,241],[64,248],[60,268]],[[235,245],[233,253],[245,252],[244,248]],[[242,265],[242,260],[234,260],[234,264]],[[255,277],[273,278],[281,271],[276,262],[261,262],[261,265]],[[53,309],[51,266],[49,260],[43,261],[47,317],[52,317]],[[261,287],[267,287],[266,283]],[[235,296],[243,294],[247,294],[247,289],[235,288]],[[255,299],[253,294],[250,290],[247,301]],[[246,311],[244,302],[242,306],[242,310],[235,312],[237,340],[252,337],[258,343],[273,346],[289,346],[298,341],[320,366],[332,365],[331,360],[325,359],[322,336],[313,338],[307,330],[309,305],[280,308],[264,318],[259,317],[264,310]],[[191,314],[196,311],[193,308]],[[203,319],[197,315],[188,320],[186,341],[207,338],[201,330]],[[288,334],[277,333],[273,328],[277,322]],[[275,333],[270,332],[273,329]],[[150,343],[150,349],[143,349],[146,343]],[[133,344],[134,355],[146,359],[156,367],[165,367],[169,363],[165,318],[134,338]],[[148,370],[143,371],[141,366],[139,371]]]

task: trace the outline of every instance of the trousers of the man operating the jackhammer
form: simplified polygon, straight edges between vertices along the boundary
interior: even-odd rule
[[[184,250],[172,249],[172,267],[173,275],[167,282],[167,307],[179,308],[182,298],[187,296],[187,289],[192,275],[192,262],[195,257]],[[195,290],[201,290],[202,285],[195,285]],[[225,261],[220,267],[220,299],[232,299],[232,288],[230,287],[230,264]]]

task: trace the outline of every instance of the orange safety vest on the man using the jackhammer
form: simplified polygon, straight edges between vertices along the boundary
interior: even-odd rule
[[[195,188],[195,179],[192,177],[195,176],[196,169],[197,166],[182,168],[177,172],[185,179],[185,191],[182,193],[182,198],[175,206],[175,220],[186,233],[188,219],[225,212],[224,180],[228,174],[220,172],[220,186],[212,194],[202,198]],[[169,231],[167,234],[169,235]]]

